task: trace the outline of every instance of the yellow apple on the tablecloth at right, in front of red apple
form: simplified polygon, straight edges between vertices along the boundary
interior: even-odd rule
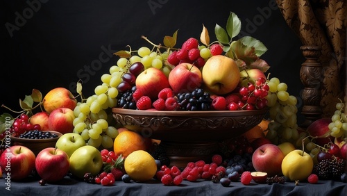
[[[282,161],[282,173],[291,181],[307,179],[312,173],[312,169],[312,157],[301,149],[289,152]]]

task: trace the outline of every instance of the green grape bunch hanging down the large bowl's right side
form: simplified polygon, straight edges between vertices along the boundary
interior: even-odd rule
[[[297,143],[298,147],[301,147],[301,140],[306,137],[306,133],[301,135],[298,133],[296,97],[289,95],[287,84],[280,82],[276,77],[271,78],[267,85],[269,85],[269,92],[266,96],[267,106],[269,106],[269,115],[273,122],[269,123],[266,138],[273,144],[291,142]]]

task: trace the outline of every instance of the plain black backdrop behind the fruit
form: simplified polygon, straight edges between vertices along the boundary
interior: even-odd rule
[[[214,26],[225,27],[230,12],[242,22],[242,31],[234,39],[251,35],[262,41],[268,48],[262,56],[271,66],[268,73],[287,83],[288,92],[301,101],[301,42],[274,0],[3,0],[0,8],[0,104],[17,111],[19,99],[33,88],[45,95],[65,87],[77,95],[73,84],[83,79],[83,93],[93,95],[101,75],[117,62],[117,56],[110,54],[128,49],[127,45],[134,50],[151,47],[141,35],[159,44],[178,30],[176,47],[180,47],[190,37],[199,38],[204,24],[211,40],[217,40]],[[103,63],[91,66],[101,58]]]

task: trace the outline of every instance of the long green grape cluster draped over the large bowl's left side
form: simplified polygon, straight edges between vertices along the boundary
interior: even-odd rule
[[[113,147],[118,130],[109,124],[112,121],[109,108],[117,106],[117,96],[121,93],[121,88],[124,88],[119,84],[124,82],[124,74],[131,72],[131,65],[140,62],[144,65],[144,70],[155,67],[167,75],[172,70],[172,67],[163,63],[169,56],[169,51],[161,53],[158,50],[151,51],[148,47],[140,47],[130,54],[128,58],[120,57],[117,65],[112,65],[109,73],[101,76],[101,84],[94,88],[94,95],[82,99],[74,108],[74,133],[80,134],[88,145],[105,149]],[[136,71],[139,70],[141,69],[137,68]],[[133,84],[129,86],[131,85]]]

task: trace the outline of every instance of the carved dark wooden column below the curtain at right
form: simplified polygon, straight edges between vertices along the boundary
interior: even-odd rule
[[[309,126],[314,120],[321,118],[321,85],[323,73],[321,63],[318,62],[321,55],[321,47],[302,46],[303,56],[306,58],[301,65],[300,79],[305,88],[302,92],[303,108],[301,113],[305,115],[303,127]]]

